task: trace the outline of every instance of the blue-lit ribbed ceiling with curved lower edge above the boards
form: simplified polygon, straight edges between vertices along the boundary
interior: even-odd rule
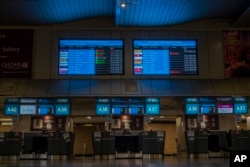
[[[57,25],[108,17],[116,27],[226,20],[232,27],[249,28],[249,5],[250,0],[0,0],[0,26]]]

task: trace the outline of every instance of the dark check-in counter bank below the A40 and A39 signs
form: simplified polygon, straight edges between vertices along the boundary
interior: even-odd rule
[[[66,159],[73,153],[73,144],[71,132],[0,132],[0,158]]]

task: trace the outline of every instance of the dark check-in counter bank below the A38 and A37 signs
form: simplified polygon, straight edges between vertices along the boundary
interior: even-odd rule
[[[95,158],[154,158],[164,155],[163,131],[94,132]]]

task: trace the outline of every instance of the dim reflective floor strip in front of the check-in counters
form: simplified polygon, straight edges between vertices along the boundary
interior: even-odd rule
[[[229,158],[0,160],[0,167],[229,167]]]

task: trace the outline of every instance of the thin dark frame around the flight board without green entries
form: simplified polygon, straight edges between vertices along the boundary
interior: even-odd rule
[[[171,64],[169,63],[169,74],[135,74],[134,68],[135,68],[135,62],[134,62],[134,50],[135,48],[135,41],[193,41],[195,42],[195,50],[196,50],[196,73],[195,74],[171,74]],[[170,58],[169,58],[170,62]],[[132,71],[133,76],[186,76],[186,75],[192,75],[192,76],[198,76],[199,75],[199,60],[198,60],[198,42],[197,39],[133,39],[132,40]]]

